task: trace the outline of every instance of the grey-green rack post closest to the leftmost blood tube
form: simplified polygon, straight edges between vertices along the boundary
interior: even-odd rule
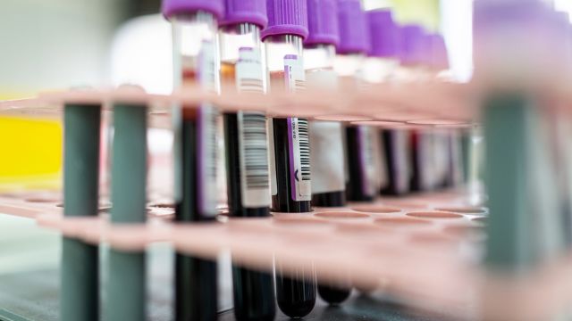
[[[147,107],[114,106],[111,223],[140,224],[147,216]],[[145,251],[113,246],[104,288],[105,320],[146,319]]]

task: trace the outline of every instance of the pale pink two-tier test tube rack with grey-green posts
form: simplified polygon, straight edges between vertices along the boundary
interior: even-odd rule
[[[526,172],[522,168],[508,168],[510,161],[522,154],[502,151],[510,144],[516,145],[516,151],[519,146],[526,145],[518,139],[518,134],[527,133],[529,129],[526,122],[515,117],[518,113],[508,112],[503,109],[507,106],[502,105],[527,112],[523,100],[487,100],[479,94],[475,84],[443,82],[366,88],[351,82],[340,86],[342,89],[338,91],[309,88],[296,95],[280,90],[274,90],[270,95],[248,95],[237,93],[232,87],[223,86],[224,95],[211,95],[198,86],[189,86],[172,95],[147,95],[138,90],[117,89],[44,93],[35,98],[0,102],[2,115],[40,118],[63,115],[65,120],[73,117],[71,110],[89,110],[91,113],[80,112],[80,120],[74,119],[80,121],[76,121],[76,128],[64,121],[66,153],[73,152],[75,154],[70,157],[80,157],[88,164],[88,168],[76,169],[87,170],[88,177],[77,172],[75,179],[88,179],[90,186],[86,187],[86,182],[72,182],[74,187],[83,186],[80,186],[80,192],[72,193],[76,197],[73,200],[64,200],[61,192],[54,191],[3,193],[0,211],[35,219],[39,226],[59,231],[66,240],[85,245],[83,249],[75,249],[80,255],[85,255],[89,246],[100,243],[107,243],[117,251],[140,253],[150,243],[168,242],[178,252],[204,259],[215,259],[221,251],[231,251],[233,259],[248,268],[272,270],[270,262],[273,258],[280,259],[284,273],[313,267],[319,281],[381,288],[407,298],[412,307],[455,311],[458,319],[538,320],[553,317],[554,311],[566,311],[572,296],[572,283],[568,282],[572,278],[569,272],[572,262],[566,252],[524,277],[522,273],[515,273],[518,268],[509,268],[509,273],[502,273],[483,265],[483,261],[487,265],[494,261],[494,255],[510,257],[511,251],[520,251],[524,246],[517,246],[522,241],[519,237],[522,237],[523,227],[519,224],[529,218],[521,215],[523,208],[517,204],[522,204],[522,197],[528,194],[516,186],[520,184],[518,177]],[[416,95],[410,95],[411,92]],[[507,96],[510,97],[502,97]],[[135,206],[140,207],[137,218],[124,223],[111,222],[105,213],[101,213],[110,204],[97,191],[97,162],[89,161],[87,157],[94,155],[85,150],[93,152],[98,147],[98,139],[94,136],[99,135],[101,112],[116,113],[120,106],[139,111],[139,115],[147,114],[148,127],[170,128],[172,106],[204,102],[214,103],[223,110],[265,111],[268,116],[303,116],[379,128],[467,130],[479,127],[484,121],[484,136],[491,142],[498,142],[500,136],[507,133],[502,130],[505,124],[499,123],[500,119],[512,119],[512,124],[522,125],[519,128],[522,130],[504,136],[498,144],[487,146],[487,172],[506,171],[501,180],[486,180],[488,196],[460,188],[442,193],[382,198],[373,203],[352,203],[340,209],[316,208],[306,214],[273,213],[272,218],[228,218],[221,207],[215,223],[181,224],[171,221],[171,187],[158,182],[149,186],[152,196],[147,204],[145,197],[135,200]],[[502,111],[507,114],[501,115]],[[139,131],[147,126],[144,119],[133,120],[139,124],[136,126]],[[80,125],[82,127],[78,128]],[[90,131],[94,136],[91,141],[85,141],[88,144],[81,147],[83,150],[71,149],[67,134],[78,135],[71,130],[80,131],[82,135],[89,135]],[[118,130],[122,129],[115,128],[116,133]],[[137,132],[134,130],[131,133]],[[130,139],[130,144],[134,144],[133,141],[136,143],[144,136],[130,136]],[[64,172],[70,170],[67,162],[64,166]],[[69,184],[66,181],[66,185]],[[69,189],[66,185],[64,192]],[[510,195],[502,194],[502,191],[500,194],[499,189],[509,191]],[[105,191],[105,186],[102,190]],[[137,190],[140,192],[140,188]],[[66,194],[66,198],[69,197]],[[63,215],[63,206],[70,203],[80,209],[77,213],[80,216],[68,215],[71,209],[66,209],[66,215]],[[491,210],[485,207],[487,204]],[[500,213],[495,209],[507,212]],[[507,221],[507,217],[513,221]],[[502,242],[509,244],[504,247],[499,246],[503,235]],[[66,264],[69,262],[63,261],[63,268]],[[75,282],[87,283],[91,287],[88,290],[97,290],[97,278],[94,279],[96,281],[76,279]],[[128,291],[135,292],[140,284],[127,285]],[[62,289],[62,300],[73,300],[66,290]],[[537,300],[539,292],[544,293],[543,300]],[[133,304],[140,306],[145,302]],[[78,306],[74,309],[94,308]]]

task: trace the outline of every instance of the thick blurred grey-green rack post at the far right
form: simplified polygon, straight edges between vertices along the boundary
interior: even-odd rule
[[[491,215],[487,225],[485,264],[491,268],[521,269],[537,253],[531,237],[528,137],[534,115],[530,98],[520,93],[490,95],[484,102],[484,182]]]

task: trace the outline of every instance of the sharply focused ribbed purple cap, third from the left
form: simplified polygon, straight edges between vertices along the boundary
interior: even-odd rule
[[[295,35],[307,38],[307,0],[267,0],[268,26],[262,31],[265,37]]]

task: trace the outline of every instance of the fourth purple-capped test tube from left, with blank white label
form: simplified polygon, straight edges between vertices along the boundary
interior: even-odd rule
[[[308,0],[308,37],[304,41],[307,86],[335,89],[333,70],[340,42],[337,0]],[[310,122],[312,205],[341,207],[345,201],[345,164],[342,126],[339,121]],[[348,282],[349,284],[349,282]],[[349,297],[348,284],[319,284],[318,293],[330,304]],[[345,286],[344,286],[345,285]]]

